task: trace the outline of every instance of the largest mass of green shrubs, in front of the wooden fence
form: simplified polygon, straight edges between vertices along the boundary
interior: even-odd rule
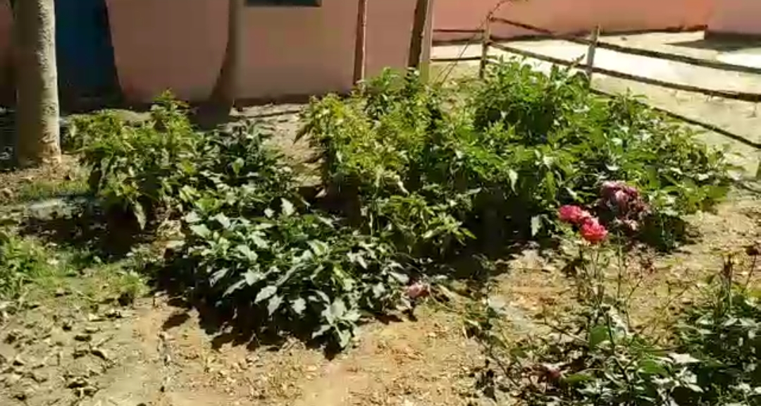
[[[310,105],[302,135],[355,223],[417,254],[457,251],[470,236],[552,235],[557,206],[591,205],[603,181],[626,181],[654,208],[640,238],[670,248],[684,215],[728,191],[721,152],[630,98],[598,98],[568,70],[501,62],[469,91],[463,104],[414,72],[387,72]],[[409,216],[412,202],[428,214]]]

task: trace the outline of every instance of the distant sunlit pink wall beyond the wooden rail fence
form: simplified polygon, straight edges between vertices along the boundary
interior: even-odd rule
[[[712,1],[514,0],[502,5],[495,15],[559,33],[588,31],[594,29],[597,24],[608,32],[663,30],[704,26],[708,21]],[[498,3],[498,0],[435,0],[434,40],[472,38],[474,34],[444,33],[438,30],[477,30],[482,27],[486,14]],[[495,24],[493,34],[498,37],[517,37],[535,33],[505,24]]]

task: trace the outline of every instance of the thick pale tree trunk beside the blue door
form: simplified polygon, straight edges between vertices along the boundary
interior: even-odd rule
[[[16,158],[21,167],[60,161],[54,0],[14,5]]]

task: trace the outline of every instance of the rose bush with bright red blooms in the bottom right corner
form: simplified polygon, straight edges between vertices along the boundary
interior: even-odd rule
[[[492,397],[508,392],[517,404],[537,405],[759,404],[761,307],[748,289],[755,261],[744,286],[738,286],[729,259],[718,283],[710,284],[708,299],[686,308],[672,326],[671,345],[664,346],[631,327],[634,290],[622,289],[636,289],[635,270],[650,262],[629,264],[620,245],[632,241],[603,232],[591,213],[564,206],[559,217],[578,226],[584,240],[576,241],[578,256],[566,269],[577,287],[578,307],[547,324],[550,334],[515,342],[500,334],[504,313],[498,307],[482,306],[467,315],[466,326],[486,344],[492,361],[479,379],[482,391]],[[611,265],[615,277],[609,275]]]

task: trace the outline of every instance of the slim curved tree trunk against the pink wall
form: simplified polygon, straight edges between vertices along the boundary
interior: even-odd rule
[[[243,11],[245,0],[228,0],[228,44],[224,61],[209,101],[216,113],[228,114],[235,104],[240,85],[240,59],[243,44]]]

